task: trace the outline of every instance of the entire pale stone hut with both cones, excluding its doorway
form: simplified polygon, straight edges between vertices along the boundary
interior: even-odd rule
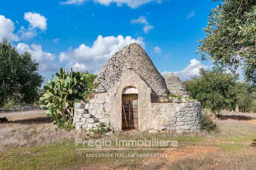
[[[164,78],[136,43],[125,46],[102,67],[95,82],[99,86],[94,97],[75,103],[73,124],[77,130],[122,130],[122,95],[127,88],[136,88],[138,94],[138,126],[141,130],[190,132],[201,129],[200,102],[166,103],[160,101],[169,91],[187,96],[177,74]],[[165,83],[166,82],[166,83]],[[169,89],[169,90],[168,90]]]

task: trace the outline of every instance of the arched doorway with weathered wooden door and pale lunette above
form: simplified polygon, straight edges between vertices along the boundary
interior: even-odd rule
[[[138,129],[138,90],[127,86],[122,91],[122,130]]]

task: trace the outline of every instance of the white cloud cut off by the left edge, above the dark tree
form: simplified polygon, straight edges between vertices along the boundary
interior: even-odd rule
[[[19,41],[18,36],[13,33],[14,29],[12,20],[0,15],[0,39],[6,37],[9,41]]]

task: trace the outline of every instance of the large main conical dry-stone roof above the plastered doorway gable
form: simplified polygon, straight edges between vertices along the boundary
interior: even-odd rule
[[[107,92],[119,81],[126,69],[134,70],[152,88],[153,95],[166,96],[167,86],[164,78],[154,66],[147,53],[137,43],[131,43],[110,57],[95,79],[99,83],[95,92]]]

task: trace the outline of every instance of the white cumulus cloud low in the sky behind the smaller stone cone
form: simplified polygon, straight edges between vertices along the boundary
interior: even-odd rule
[[[208,66],[204,65],[201,63],[199,60],[196,60],[195,58],[189,61],[190,64],[188,64],[187,67],[185,67],[183,70],[180,71],[175,71],[174,73],[178,74],[179,78],[182,81],[186,81],[190,79],[193,76],[199,76],[199,69],[204,68],[207,69],[209,68]],[[161,73],[163,77],[168,73],[168,71],[164,71]]]

